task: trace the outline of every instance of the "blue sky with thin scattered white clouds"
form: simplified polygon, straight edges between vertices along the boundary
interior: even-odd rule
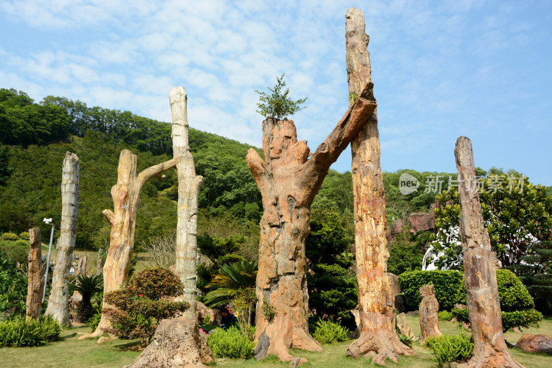
[[[3,1],[0,87],[170,122],[184,86],[190,126],[255,146],[255,90],[286,73],[315,150],[348,107],[345,12],[364,11],[382,168],[475,164],[552,185],[551,1]],[[347,149],[333,168],[348,171]]]

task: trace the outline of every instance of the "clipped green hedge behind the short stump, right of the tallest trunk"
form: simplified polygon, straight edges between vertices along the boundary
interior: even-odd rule
[[[406,298],[408,306],[417,309],[422,297],[420,287],[433,284],[435,298],[439,301],[440,309],[451,309],[459,302],[459,291],[464,285],[464,277],[458,271],[407,271],[399,275],[399,286]]]

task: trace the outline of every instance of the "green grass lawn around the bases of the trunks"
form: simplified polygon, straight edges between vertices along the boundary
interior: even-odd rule
[[[408,324],[414,333],[420,334],[420,322],[417,316],[407,317]],[[457,333],[456,322],[441,322],[441,331],[446,334]],[[117,367],[121,368],[130,364],[139,353],[134,351],[121,351],[121,347],[135,344],[132,340],[112,340],[97,345],[96,340],[77,340],[81,333],[87,333],[88,327],[77,327],[65,330],[61,333],[61,340],[53,342],[46,347],[33,348],[3,348],[0,349],[0,365],[2,367],[55,367],[55,368],[88,368],[88,367]],[[546,333],[552,336],[552,319],[543,320],[539,329],[530,329],[527,333]],[[506,340],[517,342],[521,337],[519,333],[506,333]],[[302,367],[317,368],[345,368],[345,367],[370,367],[368,360],[360,358],[354,360],[345,356],[351,341],[335,345],[324,345],[321,353],[308,351],[292,351],[294,356],[302,356],[308,359]],[[387,367],[432,368],[436,364],[431,360],[431,351],[422,347],[419,342],[413,343],[417,353],[415,357],[403,357],[398,364],[388,361]],[[526,354],[519,349],[511,349],[515,359],[525,367],[550,368],[552,356],[540,354]],[[256,360],[232,360],[216,359],[215,367],[288,367],[289,363],[266,358],[261,362]]]

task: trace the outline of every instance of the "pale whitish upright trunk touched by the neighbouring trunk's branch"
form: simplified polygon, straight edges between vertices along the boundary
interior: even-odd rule
[[[197,201],[203,177],[195,175],[194,158],[188,146],[188,114],[184,87],[170,90],[172,112],[172,157],[178,171],[178,221],[176,274],[184,284],[184,295],[177,301],[190,303],[184,317],[194,319],[197,311]]]

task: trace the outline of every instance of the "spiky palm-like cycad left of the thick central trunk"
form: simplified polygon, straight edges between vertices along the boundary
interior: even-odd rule
[[[205,305],[210,308],[221,307],[246,289],[254,289],[257,267],[257,261],[240,261],[222,266],[207,285],[208,288],[217,289],[206,294]]]

